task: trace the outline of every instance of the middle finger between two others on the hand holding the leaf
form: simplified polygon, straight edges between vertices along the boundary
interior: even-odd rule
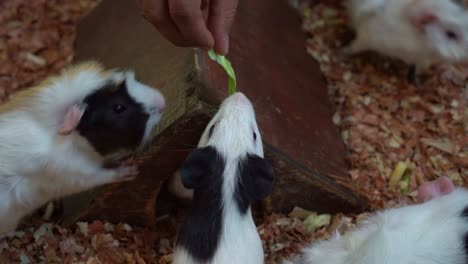
[[[214,40],[200,7],[201,0],[169,0],[169,13],[184,39],[192,46],[210,49]]]

